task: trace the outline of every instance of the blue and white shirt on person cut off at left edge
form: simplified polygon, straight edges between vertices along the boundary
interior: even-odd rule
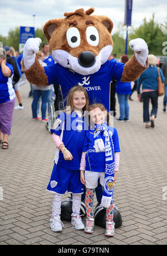
[[[2,73],[2,68],[0,67],[0,104],[7,101],[11,101],[15,98],[15,92],[12,86],[13,67],[9,63],[6,63],[6,66],[11,70],[11,76],[5,77]]]

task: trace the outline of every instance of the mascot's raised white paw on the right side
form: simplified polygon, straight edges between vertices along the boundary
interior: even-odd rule
[[[141,38],[133,39],[129,42],[130,48],[135,51],[136,60],[143,66],[146,65],[149,50],[146,42]]]

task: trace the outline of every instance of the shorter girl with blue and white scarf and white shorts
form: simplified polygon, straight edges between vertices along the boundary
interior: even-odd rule
[[[100,178],[103,187],[101,206],[106,208],[106,236],[114,236],[113,188],[119,170],[119,137],[110,126],[110,115],[101,104],[89,107],[90,129],[86,131],[80,164],[81,182],[86,185],[86,233],[94,231],[93,200]]]

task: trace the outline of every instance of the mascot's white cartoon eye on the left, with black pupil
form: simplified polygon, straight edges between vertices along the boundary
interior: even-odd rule
[[[66,32],[67,42],[71,48],[75,48],[80,45],[81,37],[80,32],[76,27],[70,27]]]

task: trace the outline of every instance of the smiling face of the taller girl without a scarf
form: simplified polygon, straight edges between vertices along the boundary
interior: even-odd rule
[[[84,108],[86,105],[86,98],[84,92],[81,91],[75,91],[73,93],[73,109],[82,111],[82,108]]]

